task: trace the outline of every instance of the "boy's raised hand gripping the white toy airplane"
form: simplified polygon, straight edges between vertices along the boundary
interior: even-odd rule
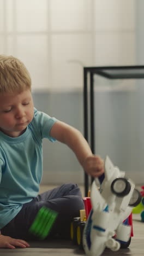
[[[88,156],[83,162],[85,172],[93,177],[99,177],[104,173],[104,160],[98,155]]]

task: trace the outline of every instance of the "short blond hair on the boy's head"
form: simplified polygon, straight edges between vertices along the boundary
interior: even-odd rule
[[[31,76],[25,65],[13,56],[0,55],[0,93],[31,90]]]

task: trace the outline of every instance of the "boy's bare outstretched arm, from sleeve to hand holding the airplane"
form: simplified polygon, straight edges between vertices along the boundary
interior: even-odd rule
[[[51,137],[67,144],[73,150],[83,170],[93,177],[104,173],[104,161],[98,155],[93,155],[82,133],[74,127],[57,121],[51,129]]]

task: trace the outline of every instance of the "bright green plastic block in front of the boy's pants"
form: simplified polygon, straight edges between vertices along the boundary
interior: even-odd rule
[[[49,235],[57,216],[58,213],[56,211],[45,206],[41,207],[33,224],[29,228],[29,232],[43,240],[47,235]]]

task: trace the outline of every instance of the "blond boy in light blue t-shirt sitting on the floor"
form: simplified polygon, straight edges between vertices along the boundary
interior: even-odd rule
[[[43,206],[58,213],[50,237],[67,236],[71,219],[83,208],[76,184],[38,195],[44,137],[70,147],[87,174],[104,172],[103,160],[92,154],[78,130],[34,108],[25,65],[0,55],[0,247],[28,247],[25,240],[36,239],[28,230]]]

